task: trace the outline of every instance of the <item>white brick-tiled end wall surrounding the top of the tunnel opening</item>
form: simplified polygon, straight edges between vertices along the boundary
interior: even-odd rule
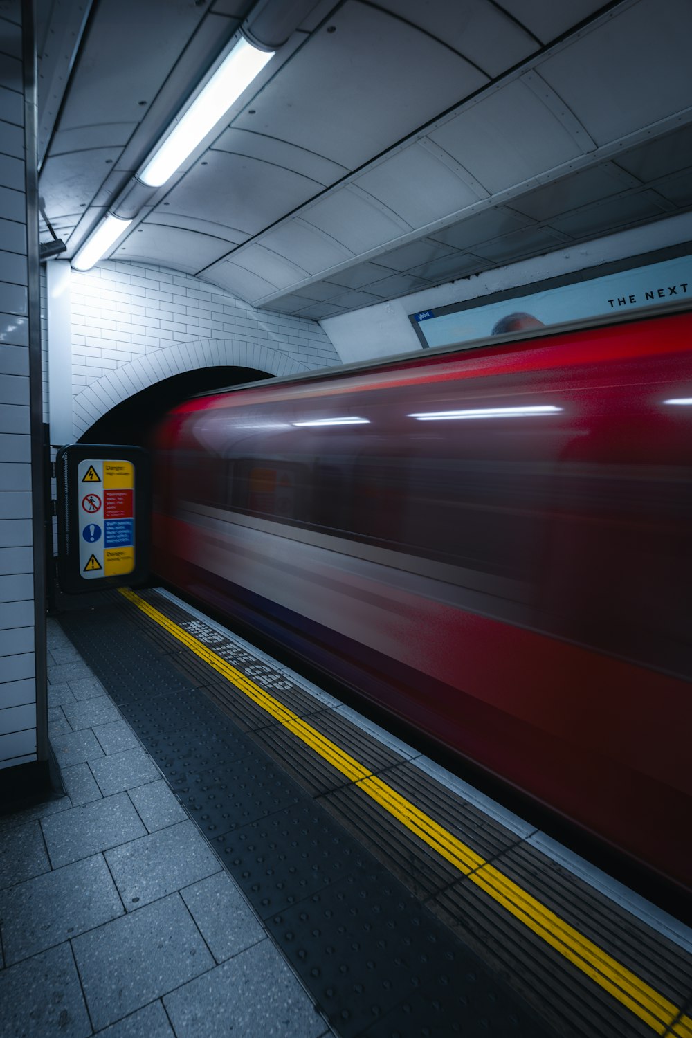
[[[340,363],[316,322],[256,310],[173,270],[107,262],[73,271],[71,294],[76,436],[129,393],[192,367],[280,375]]]

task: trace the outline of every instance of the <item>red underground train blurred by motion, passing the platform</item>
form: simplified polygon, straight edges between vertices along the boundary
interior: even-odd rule
[[[192,400],[155,568],[689,889],[692,315]]]

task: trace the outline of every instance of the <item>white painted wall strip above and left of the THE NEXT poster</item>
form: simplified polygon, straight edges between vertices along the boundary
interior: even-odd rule
[[[321,324],[344,364],[420,350],[409,313],[492,296],[497,292],[535,284],[551,277],[576,273],[692,240],[692,213],[634,227],[596,242],[575,245],[436,289],[402,296],[362,310],[325,318]]]

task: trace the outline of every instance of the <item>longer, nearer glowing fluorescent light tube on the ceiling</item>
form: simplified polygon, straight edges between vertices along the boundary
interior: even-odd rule
[[[185,115],[173,124],[139,173],[139,180],[151,188],[165,184],[261,72],[274,53],[259,51],[247,39],[239,39]]]

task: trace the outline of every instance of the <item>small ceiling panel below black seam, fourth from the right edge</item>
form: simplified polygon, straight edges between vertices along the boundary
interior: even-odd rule
[[[396,220],[394,213],[383,212],[362,195],[349,190],[321,198],[305,211],[303,219],[356,254],[384,245],[411,230],[410,225],[403,225]]]

